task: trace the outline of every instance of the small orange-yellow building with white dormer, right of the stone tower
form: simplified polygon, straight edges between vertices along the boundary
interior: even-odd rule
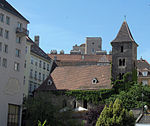
[[[150,64],[142,58],[138,60],[138,82],[143,85],[150,85]]]

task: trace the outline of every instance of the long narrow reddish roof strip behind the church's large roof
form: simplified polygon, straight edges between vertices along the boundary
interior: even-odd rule
[[[51,59],[57,57],[58,61],[100,61],[104,55],[72,55],[72,54],[48,54]],[[105,55],[108,61],[112,61],[112,55]]]

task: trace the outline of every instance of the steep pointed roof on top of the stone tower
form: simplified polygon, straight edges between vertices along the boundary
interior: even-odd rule
[[[126,21],[122,23],[122,26],[116,36],[116,38],[112,42],[135,42],[132,34],[130,32],[130,29],[128,27],[128,24]]]

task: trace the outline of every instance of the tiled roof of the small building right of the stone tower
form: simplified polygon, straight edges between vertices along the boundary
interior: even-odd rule
[[[150,64],[146,60],[140,59],[137,61],[137,69],[139,71],[144,69],[150,70]]]

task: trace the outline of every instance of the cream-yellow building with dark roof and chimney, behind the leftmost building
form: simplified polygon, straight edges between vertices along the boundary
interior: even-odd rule
[[[26,37],[25,53],[24,97],[32,95],[32,92],[47,78],[53,63],[39,47],[39,36],[35,36],[34,42]]]

